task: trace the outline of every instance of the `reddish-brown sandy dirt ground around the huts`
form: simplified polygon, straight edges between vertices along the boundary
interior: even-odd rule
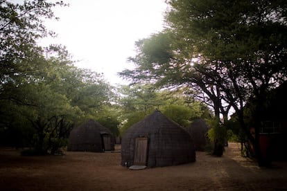
[[[120,152],[20,156],[1,148],[0,190],[287,190],[287,163],[257,167],[239,148],[229,143],[220,158],[197,152],[195,163],[146,170],[122,167]]]

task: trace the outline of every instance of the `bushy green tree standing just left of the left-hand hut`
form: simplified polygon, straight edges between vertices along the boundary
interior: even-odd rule
[[[43,62],[50,63],[49,60]],[[87,73],[79,70],[77,73],[80,75],[74,75],[72,81],[66,80],[67,76],[71,77],[74,73],[75,67],[63,64],[62,66],[63,68],[54,60],[53,64],[49,65],[51,69],[44,68],[41,72],[42,79],[23,83],[15,89],[17,100],[25,104],[17,102],[12,104],[17,108],[15,112],[26,118],[34,129],[33,136],[30,135],[31,145],[38,153],[54,154],[59,147],[67,145],[67,137],[73,125],[89,116],[94,116],[111,98],[109,85],[101,81],[98,75],[87,78]],[[58,70],[55,71],[55,68]],[[37,77],[37,73],[34,76]],[[96,78],[98,84],[94,82]],[[87,89],[89,91],[83,91]]]

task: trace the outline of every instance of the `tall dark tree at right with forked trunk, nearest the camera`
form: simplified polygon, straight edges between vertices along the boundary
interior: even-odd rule
[[[241,127],[256,148],[259,165],[257,116],[266,92],[286,80],[286,3],[283,1],[168,1],[173,33],[184,37],[184,47],[204,57],[205,75],[236,111]],[[182,50],[182,48],[181,48]],[[205,64],[207,64],[205,66]],[[243,107],[255,98],[255,139],[244,124]]]

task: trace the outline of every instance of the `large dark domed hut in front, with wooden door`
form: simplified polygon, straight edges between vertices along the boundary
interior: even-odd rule
[[[121,142],[121,165],[163,167],[195,161],[189,133],[160,111],[135,123]]]

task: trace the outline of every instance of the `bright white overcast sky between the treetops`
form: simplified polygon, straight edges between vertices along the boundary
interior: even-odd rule
[[[59,21],[46,21],[55,39],[41,44],[62,44],[79,60],[75,65],[103,73],[112,85],[126,84],[116,73],[132,69],[134,43],[163,29],[164,0],[65,0],[69,7],[55,8]]]

